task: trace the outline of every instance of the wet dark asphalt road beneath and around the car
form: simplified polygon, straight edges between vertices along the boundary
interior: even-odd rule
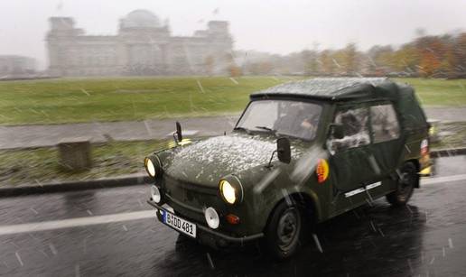
[[[439,177],[465,174],[465,164],[464,156],[443,158]],[[405,208],[379,199],[333,218],[318,227],[322,253],[310,235],[284,263],[255,245],[219,252],[180,239],[152,218],[145,186],[0,199],[0,275],[466,276],[466,176],[460,179],[424,181]],[[116,217],[92,224],[106,215]],[[79,218],[76,226],[56,228],[70,218]],[[16,234],[34,222],[49,229]]]

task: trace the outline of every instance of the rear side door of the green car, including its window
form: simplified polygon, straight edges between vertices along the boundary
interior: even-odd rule
[[[396,170],[399,161],[403,147],[400,125],[395,108],[390,102],[371,104],[369,115],[372,168],[376,171],[378,179],[384,179]]]

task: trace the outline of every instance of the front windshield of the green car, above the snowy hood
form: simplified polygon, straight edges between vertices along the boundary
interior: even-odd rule
[[[302,101],[258,100],[247,106],[236,129],[284,134],[312,140],[322,106]]]

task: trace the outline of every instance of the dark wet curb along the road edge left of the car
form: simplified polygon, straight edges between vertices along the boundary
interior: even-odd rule
[[[0,188],[0,198],[65,191],[78,191],[84,189],[128,187],[149,183],[151,183],[151,178],[149,176],[145,174],[135,174],[116,178],[102,178],[97,180],[65,181],[43,185],[28,184],[20,185],[17,187]]]

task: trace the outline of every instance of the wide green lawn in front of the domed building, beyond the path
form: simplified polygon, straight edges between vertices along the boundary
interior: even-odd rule
[[[0,82],[0,125],[238,113],[249,93],[294,78],[68,78]],[[398,79],[425,106],[466,106],[466,80]]]

